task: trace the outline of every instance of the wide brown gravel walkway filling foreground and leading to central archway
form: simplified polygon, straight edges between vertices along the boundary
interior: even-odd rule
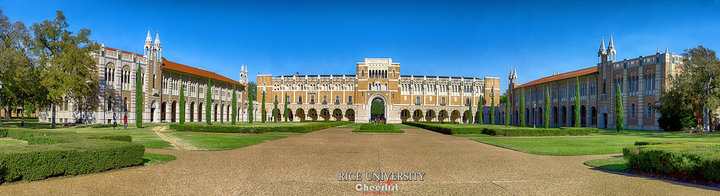
[[[153,166],[0,185],[0,195],[361,195],[338,172],[424,172],[405,195],[717,195],[594,170],[585,160],[494,147],[421,129],[350,134],[331,128],[229,151],[148,150],[177,156]],[[363,183],[369,183],[363,181]]]

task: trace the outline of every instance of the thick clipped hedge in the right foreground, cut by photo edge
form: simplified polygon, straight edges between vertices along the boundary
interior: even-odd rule
[[[720,143],[641,141],[623,155],[633,170],[720,182]]]

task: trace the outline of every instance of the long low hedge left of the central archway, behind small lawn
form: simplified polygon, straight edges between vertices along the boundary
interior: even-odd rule
[[[312,123],[296,126],[260,126],[260,127],[246,127],[246,126],[233,126],[233,125],[204,125],[204,124],[170,124],[171,129],[177,131],[191,131],[191,132],[219,132],[219,133],[265,133],[265,132],[294,132],[294,133],[308,133],[321,129],[327,129],[330,127],[351,124],[348,121],[331,121]]]

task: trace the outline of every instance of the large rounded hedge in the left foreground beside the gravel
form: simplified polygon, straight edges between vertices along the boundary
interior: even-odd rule
[[[0,129],[0,137],[28,145],[0,147],[0,182],[41,180],[139,165],[145,147],[130,136]]]

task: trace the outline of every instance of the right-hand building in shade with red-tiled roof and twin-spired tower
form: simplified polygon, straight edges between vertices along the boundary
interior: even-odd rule
[[[525,92],[527,126],[542,125],[543,112],[550,110],[551,126],[574,126],[576,79],[580,84],[580,123],[583,127],[615,127],[615,86],[619,85],[626,129],[660,130],[660,113],[655,106],[668,88],[669,74],[675,74],[682,56],[664,53],[616,61],[613,38],[605,49],[604,39],[598,51],[598,63],[567,73],[558,73],[517,85],[517,72],[509,76],[511,124],[519,124],[520,96]],[[550,108],[545,106],[546,88],[550,91]]]

